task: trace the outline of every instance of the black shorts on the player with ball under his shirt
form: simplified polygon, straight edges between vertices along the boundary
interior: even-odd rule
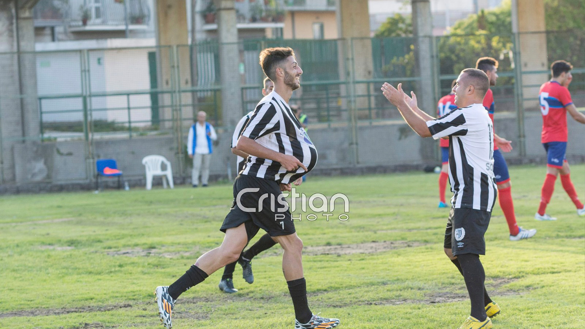
[[[236,198],[243,189],[250,190],[241,193],[238,204]],[[280,186],[275,180],[239,174],[233,181],[232,209],[223,220],[220,231],[225,233],[226,229],[238,227],[246,222],[248,239],[251,239],[257,233],[257,230],[251,232],[251,225],[247,223],[252,222],[255,227],[268,232],[270,237],[293,234],[296,232],[294,222],[292,222],[288,204],[284,201],[282,194]],[[261,197],[263,200],[260,209],[258,201]],[[252,237],[250,237],[251,233],[253,233]]]

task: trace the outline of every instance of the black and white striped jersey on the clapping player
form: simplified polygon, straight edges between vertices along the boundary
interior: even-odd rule
[[[455,208],[491,211],[497,196],[494,128],[482,104],[427,121],[433,138],[449,136],[449,183]]]

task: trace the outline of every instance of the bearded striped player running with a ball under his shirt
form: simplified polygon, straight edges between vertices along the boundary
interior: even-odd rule
[[[302,269],[302,241],[288,207],[280,202],[275,207],[270,201],[283,200],[282,191],[290,191],[291,182],[311,171],[317,162],[315,146],[288,106],[292,91],[300,87],[302,70],[289,47],[262,50],[260,66],[273,81],[274,90],[257,105],[236,144],[249,159],[233,182],[233,205],[220,228],[225,237],[221,246],[201,255],[172,285],[156,288],[159,314],[167,328],[171,328],[171,314],[180,294],[237,261],[260,228],[284,249],[283,273],[294,306],[295,329],[326,329],[339,324],[336,318],[311,313]]]

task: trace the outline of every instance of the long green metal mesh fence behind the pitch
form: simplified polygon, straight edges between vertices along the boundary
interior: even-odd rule
[[[419,65],[424,54],[418,53],[423,43],[431,52],[431,63],[425,70]],[[183,159],[184,139],[198,111],[207,112],[208,121],[229,131],[234,123],[226,121],[226,111],[243,115],[254,109],[261,98],[264,78],[258,54],[274,46],[290,46],[297,54],[304,73],[301,88],[290,103],[302,107],[311,129],[347,125],[353,134],[350,143],[355,145],[356,126],[401,120],[381,95],[382,83],[401,82],[405,90],[419,95],[431,92],[434,102],[424,105],[425,111],[433,114],[436,101],[449,92],[459,71],[473,67],[483,56],[500,62],[499,78],[493,87],[496,111],[497,115],[507,112],[517,119],[518,136],[513,137],[518,138],[516,145],[520,148],[525,143],[524,115],[538,114],[538,87],[548,80],[553,60],[572,62],[569,90],[577,107],[585,104],[585,30],[426,38],[245,40],[232,48],[236,53],[229,54],[239,63],[239,70],[223,77],[221,58],[225,54],[221,53],[222,45],[213,41],[190,46],[1,53],[0,66],[20,61],[21,67],[30,70],[19,71],[23,76],[29,74],[28,80],[20,81],[34,88],[1,92],[0,122],[9,120],[6,111],[10,107],[27,107],[26,111],[37,113],[39,133],[13,133],[6,123],[0,124],[0,148],[12,140],[83,140],[87,157],[94,158],[92,145],[96,140],[166,135],[174,140],[170,146],[173,152]],[[236,87],[225,88],[230,84]],[[239,98],[241,107],[223,106],[224,92]]]

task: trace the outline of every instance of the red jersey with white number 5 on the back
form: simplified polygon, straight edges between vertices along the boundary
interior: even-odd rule
[[[541,85],[538,93],[542,112],[542,143],[567,141],[567,109],[571,93],[556,81]]]

